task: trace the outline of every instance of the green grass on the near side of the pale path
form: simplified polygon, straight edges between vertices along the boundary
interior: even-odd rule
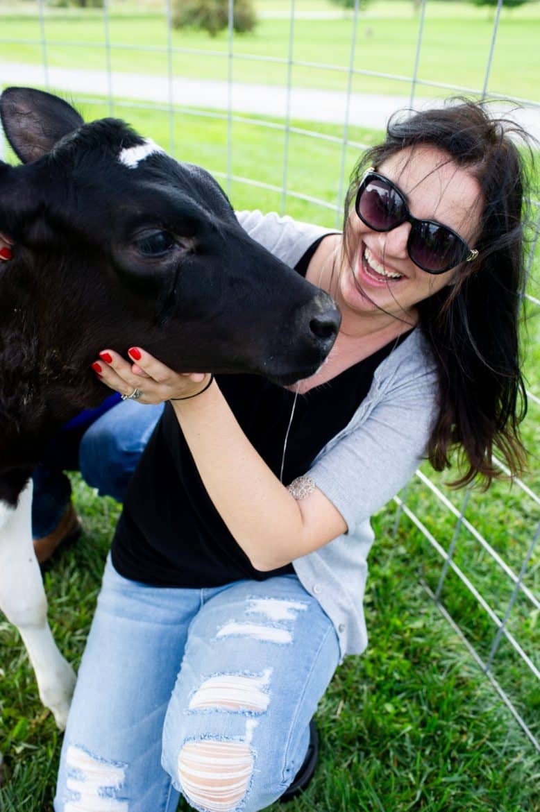
[[[107,113],[105,106],[87,106],[89,118]],[[119,110],[120,112],[120,110]],[[166,113],[121,108],[124,118],[168,145],[170,119]],[[236,175],[280,185],[283,132],[270,119],[231,125],[231,169]],[[309,128],[309,124],[302,123]],[[340,137],[340,127],[316,127]],[[353,129],[349,136],[373,143],[380,134]],[[227,171],[227,121],[179,114],[174,119],[178,157],[201,163],[218,173]],[[358,150],[348,149],[348,174]],[[342,160],[339,144],[306,136],[291,136],[287,185],[294,192],[337,202]],[[280,209],[280,192],[233,183],[236,208]],[[330,209],[287,197],[285,208],[297,218],[332,225]],[[534,264],[531,292],[540,297],[540,262]],[[529,307],[525,371],[529,388],[540,394],[540,309]],[[540,492],[540,407],[531,405],[525,438],[532,451],[527,484]],[[451,477],[436,477],[438,482]],[[45,573],[50,620],[63,653],[77,664],[92,617],[103,561],[119,507],[97,499],[77,477],[73,479],[76,507],[84,521],[84,536],[64,551]],[[463,493],[451,493],[460,506]],[[425,486],[414,483],[407,502],[445,549],[455,522],[450,520]],[[403,519],[393,533],[395,508],[374,520],[378,543],[370,559],[366,615],[370,646],[360,658],[339,668],[318,712],[322,738],[321,762],[304,797],[291,812],[540,812],[540,758],[517,727],[486,677],[438,609],[422,581],[434,587],[441,560],[421,533]],[[473,494],[467,517],[500,555],[519,572],[525,551],[538,525],[538,505],[515,488],[495,486],[488,495]],[[496,568],[469,533],[460,534],[456,561],[473,584],[503,615],[511,593],[507,576]],[[531,561],[525,583],[538,594],[540,551]],[[468,590],[451,574],[443,590],[446,606],[458,624],[486,655],[495,628]],[[529,656],[540,651],[538,613],[518,600],[510,619],[514,633]],[[7,781],[0,788],[2,812],[51,812],[54,775],[61,737],[54,720],[37,701],[32,671],[19,638],[0,622],[0,752],[5,756]],[[495,659],[495,676],[512,697],[538,736],[540,692],[529,670],[503,643]],[[180,810],[188,806],[181,803]],[[283,809],[272,807],[273,812]],[[153,810],[149,810],[153,812]]]

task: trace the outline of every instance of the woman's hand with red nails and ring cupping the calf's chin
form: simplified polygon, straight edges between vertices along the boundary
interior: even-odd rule
[[[204,372],[174,372],[139,347],[127,352],[132,364],[118,352],[104,350],[99,353],[100,360],[92,365],[97,377],[124,400],[159,404],[164,400],[190,398],[202,392],[210,380]]]

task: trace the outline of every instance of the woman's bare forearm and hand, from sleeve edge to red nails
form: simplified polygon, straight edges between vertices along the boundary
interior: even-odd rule
[[[139,388],[143,404],[187,398],[172,400],[179,425],[214,507],[254,568],[283,567],[347,530],[318,488],[301,501],[293,498],[245,437],[217,382],[202,391],[205,376],[176,374],[138,352],[135,365],[112,350],[102,354],[102,361],[111,358],[97,362],[102,381],[126,393]]]

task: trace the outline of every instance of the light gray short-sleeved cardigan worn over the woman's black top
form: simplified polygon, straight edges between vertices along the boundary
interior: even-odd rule
[[[254,240],[287,265],[331,231],[277,214],[240,212]],[[314,460],[309,476],[339,510],[348,532],[292,562],[305,590],[335,625],[342,659],[367,646],[363,598],[374,541],[369,516],[413,476],[424,456],[437,402],[433,357],[417,328],[375,370],[348,425]]]

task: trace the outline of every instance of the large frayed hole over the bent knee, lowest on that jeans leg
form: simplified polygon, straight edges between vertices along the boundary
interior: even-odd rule
[[[209,812],[230,812],[248,789],[253,753],[242,741],[188,741],[180,750],[178,770],[190,803]]]

